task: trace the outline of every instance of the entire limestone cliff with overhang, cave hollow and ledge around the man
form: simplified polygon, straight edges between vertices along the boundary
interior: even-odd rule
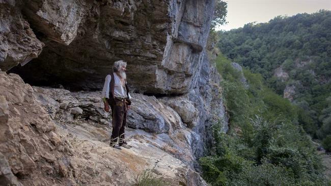
[[[205,49],[214,3],[0,0],[0,180],[128,185],[150,169],[171,185],[205,185],[197,160],[213,143],[211,126],[228,130]],[[133,147],[123,151],[107,145],[100,99],[120,59],[134,92]]]

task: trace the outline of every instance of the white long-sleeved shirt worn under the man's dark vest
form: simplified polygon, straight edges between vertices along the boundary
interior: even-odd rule
[[[125,87],[122,87],[120,77],[116,73],[114,73],[114,79],[115,79],[114,96],[119,98],[126,98],[127,97],[126,89]],[[111,81],[112,81],[112,76],[108,74],[104,81],[104,85],[102,89],[102,98],[109,98]],[[129,98],[131,98],[130,94],[129,94]]]

